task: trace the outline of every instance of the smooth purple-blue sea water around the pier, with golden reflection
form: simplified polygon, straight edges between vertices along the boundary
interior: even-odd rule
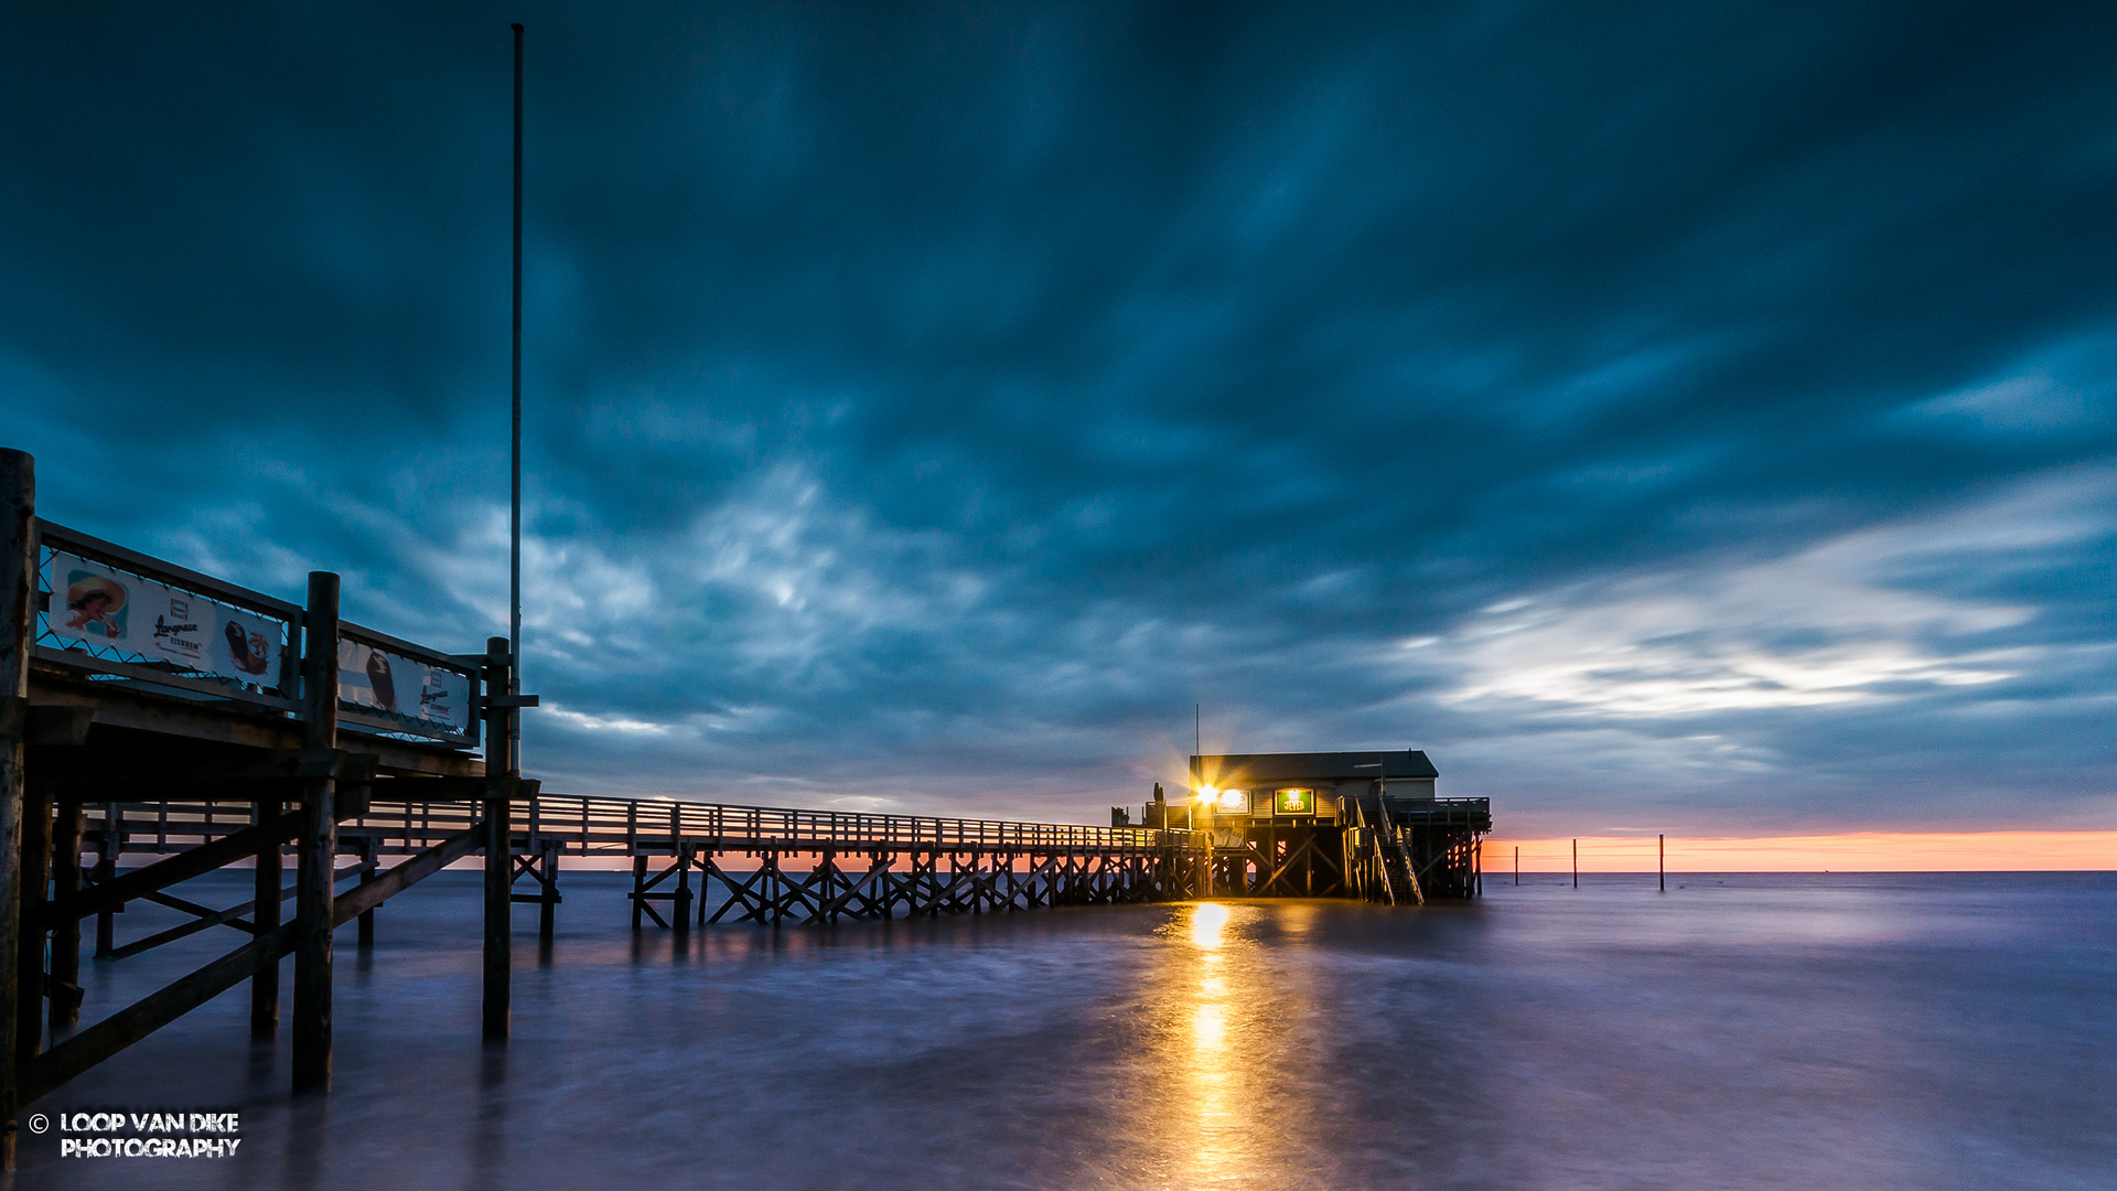
[[[195,882],[199,901],[243,901]],[[2117,875],[1497,879],[1480,905],[625,926],[567,873],[478,1043],[476,877],[339,935],[337,1085],[231,992],[36,1110],[241,1113],[235,1159],[25,1187],[2117,1187]],[[121,937],[163,911],[135,907]],[[89,1017],[229,947],[93,964]],[[292,971],[292,968],[288,968]],[[104,1007],[104,1009],[97,1009]],[[25,1110],[28,1117],[28,1110]]]

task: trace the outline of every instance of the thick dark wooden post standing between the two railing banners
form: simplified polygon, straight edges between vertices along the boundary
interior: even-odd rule
[[[309,608],[301,623],[301,742],[311,750],[337,750],[337,574],[309,572]],[[330,901],[339,854],[334,801],[337,782],[330,776],[303,784],[294,848],[294,1091],[330,1091]]]

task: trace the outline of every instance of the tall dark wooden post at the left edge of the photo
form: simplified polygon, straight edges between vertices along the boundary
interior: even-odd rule
[[[15,1170],[21,996],[21,816],[30,731],[30,644],[36,640],[36,460],[0,449],[0,1170]]]

